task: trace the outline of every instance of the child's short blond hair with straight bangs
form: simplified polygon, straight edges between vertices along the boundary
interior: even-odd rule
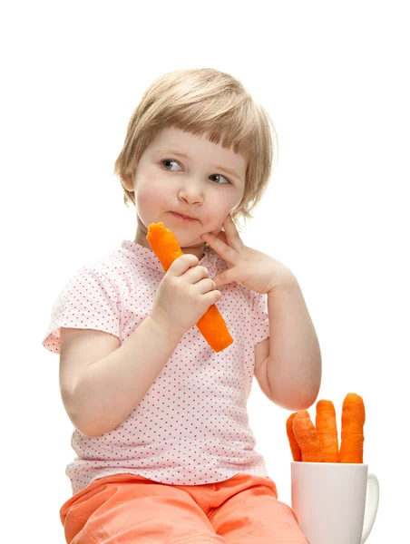
[[[254,102],[242,83],[213,68],[162,75],[132,113],[114,174],[131,180],[143,151],[168,127],[205,135],[248,161],[244,195],[232,219],[253,218],[250,211],[262,198],[278,157],[278,137],[268,112]],[[122,189],[125,205],[135,206],[134,193],[123,185]]]

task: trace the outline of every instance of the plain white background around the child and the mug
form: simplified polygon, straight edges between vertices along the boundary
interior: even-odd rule
[[[335,403],[338,422],[347,393],[365,401],[364,461],[381,491],[367,542],[405,541],[406,3],[14,2],[0,21],[2,535],[64,541],[73,428],[45,329],[73,273],[134,237],[112,170],[142,93],[210,66],[275,122],[278,165],[242,238],[298,277],[322,350],[317,400]],[[255,381],[257,449],[289,503],[288,415]]]

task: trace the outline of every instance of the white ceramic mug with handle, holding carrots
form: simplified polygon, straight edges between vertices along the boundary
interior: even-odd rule
[[[309,544],[363,544],[373,528],[379,485],[368,465],[290,463],[292,509]]]

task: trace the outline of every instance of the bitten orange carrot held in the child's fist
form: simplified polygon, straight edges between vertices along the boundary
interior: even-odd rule
[[[162,222],[151,223],[148,226],[147,240],[152,251],[160,259],[165,272],[177,257],[183,255],[178,239],[169,228],[164,227]],[[220,315],[220,310],[214,304],[200,317],[197,326],[200,334],[216,352],[220,352],[233,342],[228,327]]]

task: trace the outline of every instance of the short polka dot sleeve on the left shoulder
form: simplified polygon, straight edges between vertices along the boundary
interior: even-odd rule
[[[83,267],[55,301],[43,345],[60,353],[60,327],[85,328],[121,337],[118,296],[112,282],[95,268]]]

